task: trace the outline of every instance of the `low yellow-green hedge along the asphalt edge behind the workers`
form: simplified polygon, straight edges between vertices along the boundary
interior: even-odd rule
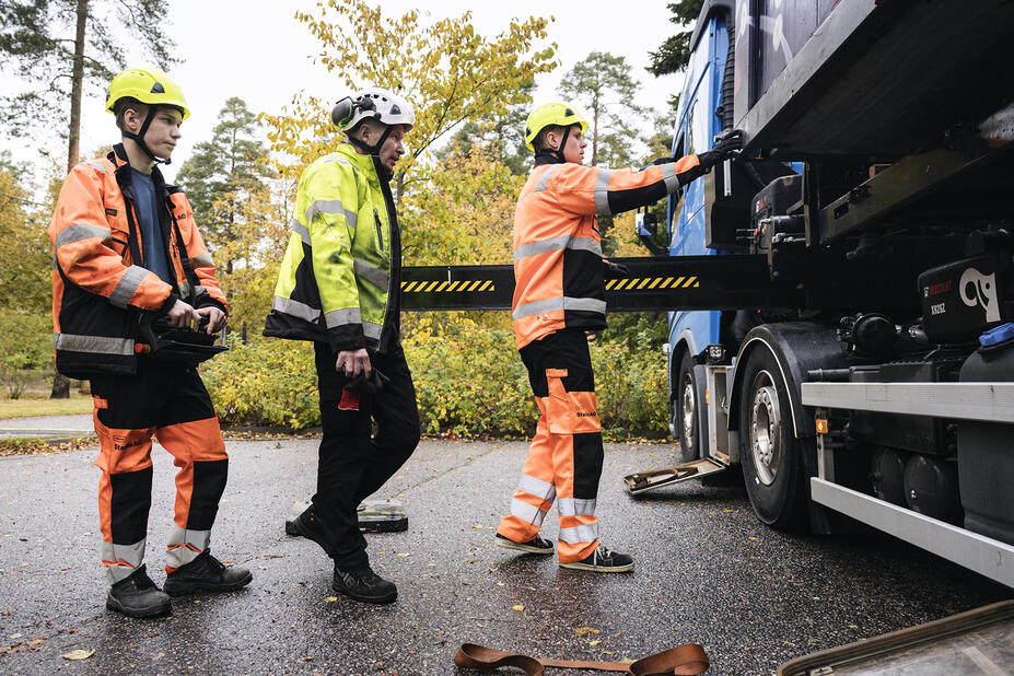
[[[531,436],[538,408],[510,329],[467,315],[424,315],[403,345],[426,434]],[[607,440],[663,436],[665,359],[622,342],[591,345],[598,412]],[[228,424],[301,429],[319,424],[313,346],[255,338],[201,370]]]

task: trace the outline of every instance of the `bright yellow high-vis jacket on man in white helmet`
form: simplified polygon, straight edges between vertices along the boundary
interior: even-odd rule
[[[342,143],[303,172],[265,336],[335,352],[397,345],[401,242],[382,168]]]

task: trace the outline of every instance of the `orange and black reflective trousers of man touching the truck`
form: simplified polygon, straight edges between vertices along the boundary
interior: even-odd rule
[[[602,426],[588,343],[582,329],[563,329],[521,349],[539,420],[511,513],[498,533],[515,543],[535,537],[557,503],[560,563],[598,547],[595,501],[602,475]]]

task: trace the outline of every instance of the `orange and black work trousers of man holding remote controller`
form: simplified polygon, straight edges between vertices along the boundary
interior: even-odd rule
[[[136,375],[96,376],[91,385],[106,576],[119,582],[144,560],[152,435],[178,468],[165,567],[172,572],[208,548],[225,489],[229,456],[208,392],[195,369],[147,359],[139,360]]]

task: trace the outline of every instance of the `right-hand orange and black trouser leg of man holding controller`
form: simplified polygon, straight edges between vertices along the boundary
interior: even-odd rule
[[[155,430],[173,455],[176,506],[166,552],[166,572],[186,566],[208,548],[219,500],[225,490],[229,456],[218,418],[180,422]]]

